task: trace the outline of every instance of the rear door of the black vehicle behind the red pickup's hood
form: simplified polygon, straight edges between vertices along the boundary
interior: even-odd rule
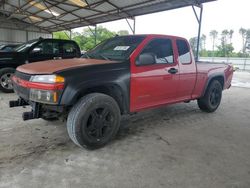
[[[71,41],[63,42],[62,50],[63,50],[63,59],[70,59],[80,56],[79,48],[74,42]]]

